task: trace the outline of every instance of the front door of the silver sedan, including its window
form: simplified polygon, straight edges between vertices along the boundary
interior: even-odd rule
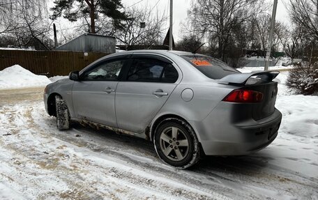
[[[116,87],[127,58],[100,61],[80,75],[73,86],[75,116],[117,127],[114,107]]]

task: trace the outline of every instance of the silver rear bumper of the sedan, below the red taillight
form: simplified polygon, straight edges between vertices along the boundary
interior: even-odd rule
[[[212,112],[204,121],[192,121],[206,155],[246,155],[265,148],[277,137],[282,114],[275,109],[259,121],[232,121],[224,109]]]

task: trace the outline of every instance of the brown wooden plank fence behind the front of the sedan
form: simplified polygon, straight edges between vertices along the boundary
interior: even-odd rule
[[[15,64],[36,75],[68,75],[82,70],[93,61],[107,55],[98,52],[28,51],[0,49],[0,70]]]

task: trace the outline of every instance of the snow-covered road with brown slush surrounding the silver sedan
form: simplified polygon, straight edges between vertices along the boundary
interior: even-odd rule
[[[143,139],[80,125],[56,130],[42,93],[0,91],[0,199],[318,199],[318,137],[289,131],[293,111],[282,111],[278,139],[264,150],[177,170]]]

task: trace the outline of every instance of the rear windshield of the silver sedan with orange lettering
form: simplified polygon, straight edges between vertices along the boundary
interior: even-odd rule
[[[209,56],[186,55],[181,57],[211,79],[222,79],[227,75],[240,73],[238,70]]]

